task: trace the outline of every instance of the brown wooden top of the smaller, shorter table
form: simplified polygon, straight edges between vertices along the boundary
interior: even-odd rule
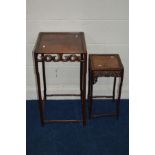
[[[114,71],[123,69],[123,64],[118,54],[91,54],[91,69],[95,71]]]

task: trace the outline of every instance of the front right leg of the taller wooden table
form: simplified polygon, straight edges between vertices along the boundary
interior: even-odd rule
[[[83,126],[86,125],[86,72],[87,72],[87,54],[84,54],[84,62],[82,62],[82,117]]]

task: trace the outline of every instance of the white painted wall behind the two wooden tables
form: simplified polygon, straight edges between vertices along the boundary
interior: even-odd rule
[[[32,50],[38,33],[83,31],[88,54],[120,54],[125,70],[122,98],[128,99],[128,9],[128,0],[27,0],[26,98],[37,98]],[[47,93],[79,93],[78,63],[47,63],[46,73]],[[111,95],[112,85],[112,79],[102,78],[94,93]]]

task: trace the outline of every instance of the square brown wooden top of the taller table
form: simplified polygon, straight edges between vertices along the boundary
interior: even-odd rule
[[[40,32],[34,49],[38,54],[87,53],[83,32]]]

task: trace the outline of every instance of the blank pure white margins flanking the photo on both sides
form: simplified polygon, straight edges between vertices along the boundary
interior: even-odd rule
[[[26,154],[25,2],[0,8],[0,154]],[[130,155],[154,155],[154,9],[130,0]],[[9,43],[9,44],[8,44]]]

